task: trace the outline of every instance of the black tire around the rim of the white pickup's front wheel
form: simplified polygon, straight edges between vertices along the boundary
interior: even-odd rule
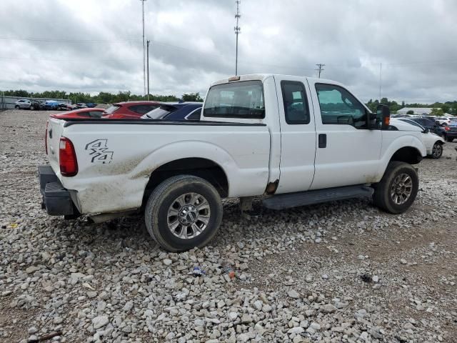
[[[397,204],[393,199],[393,197],[396,197],[396,193],[391,194],[391,190],[395,187],[396,178],[403,175],[411,178],[411,194],[405,199],[405,202]],[[418,174],[411,164],[391,161],[386,168],[386,172],[384,172],[383,178],[373,188],[373,202],[377,207],[391,214],[400,214],[405,212],[416,199],[419,189]]]

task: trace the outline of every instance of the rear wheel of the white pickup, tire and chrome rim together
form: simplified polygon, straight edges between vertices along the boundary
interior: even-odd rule
[[[204,247],[221,225],[221,197],[205,179],[171,177],[151,193],[144,218],[151,237],[170,252]]]

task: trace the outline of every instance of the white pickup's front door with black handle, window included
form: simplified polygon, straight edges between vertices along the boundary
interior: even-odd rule
[[[338,84],[308,79],[316,118],[316,172],[311,189],[378,179],[381,131],[367,128],[368,109]]]

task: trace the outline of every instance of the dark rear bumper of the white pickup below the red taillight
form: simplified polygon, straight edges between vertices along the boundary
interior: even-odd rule
[[[43,197],[41,208],[51,216],[79,217],[68,189],[62,186],[51,166],[39,166],[38,177]]]

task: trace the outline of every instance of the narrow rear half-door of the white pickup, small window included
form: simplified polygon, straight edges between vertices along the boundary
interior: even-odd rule
[[[281,126],[281,161],[276,194],[306,191],[314,177],[316,130],[306,79],[274,76]]]

